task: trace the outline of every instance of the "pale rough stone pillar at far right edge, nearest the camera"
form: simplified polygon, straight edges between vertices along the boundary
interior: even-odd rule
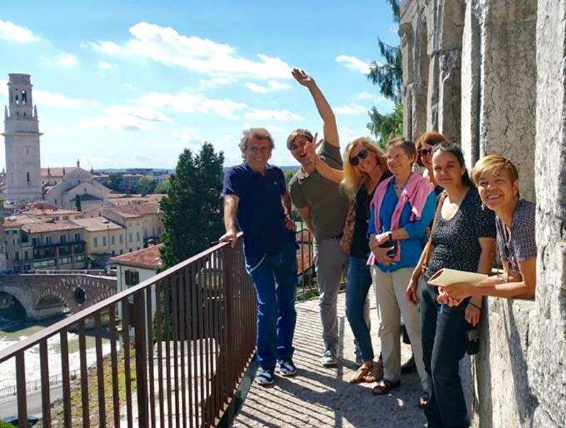
[[[533,427],[566,426],[566,0],[539,0],[536,28],[536,315]]]

